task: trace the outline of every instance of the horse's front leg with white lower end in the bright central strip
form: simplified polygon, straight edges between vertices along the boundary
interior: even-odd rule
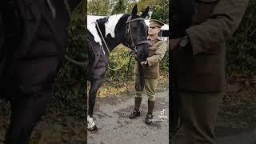
[[[96,100],[96,94],[100,86],[102,86],[103,78],[92,79],[90,81],[90,92],[89,92],[89,114],[87,116],[87,128],[90,131],[98,130],[97,126],[94,123],[93,113],[94,105]]]

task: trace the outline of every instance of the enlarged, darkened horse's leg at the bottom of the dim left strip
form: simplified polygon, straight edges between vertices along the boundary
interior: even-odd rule
[[[10,126],[6,144],[29,144],[31,132],[50,103],[51,90],[39,90],[30,95],[12,98]]]

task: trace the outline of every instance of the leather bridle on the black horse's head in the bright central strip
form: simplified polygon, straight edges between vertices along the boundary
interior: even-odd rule
[[[128,46],[130,47],[131,50],[134,50],[136,51],[137,50],[137,46],[138,45],[142,45],[142,44],[145,44],[145,43],[149,43],[149,41],[145,40],[145,41],[141,41],[141,42],[136,42],[134,43],[134,38],[131,34],[131,28],[130,28],[130,22],[134,22],[134,21],[144,21],[145,19],[144,18],[134,18],[134,19],[130,19],[131,16],[127,19],[127,22],[128,23],[128,29],[126,30],[126,34],[129,34],[129,38],[130,38],[130,42],[131,44],[128,44]]]

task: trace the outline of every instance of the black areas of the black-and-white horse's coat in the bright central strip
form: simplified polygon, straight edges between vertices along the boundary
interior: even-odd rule
[[[136,11],[135,11],[136,12]],[[133,18],[139,18],[139,16],[136,14],[132,14]],[[101,18],[97,20],[98,22],[98,27],[100,31],[102,32],[102,36],[100,35],[100,31],[98,30],[97,26],[96,29],[98,31],[98,35],[100,36],[102,40],[102,47],[98,42],[94,41],[94,35],[91,34],[90,32],[87,34],[87,48],[90,49],[92,52],[90,54],[89,58],[89,63],[90,63],[90,70],[89,70],[89,80],[90,80],[90,92],[89,92],[89,110],[88,110],[88,115],[90,117],[93,117],[93,111],[94,111],[94,105],[95,105],[95,100],[96,100],[96,94],[100,86],[102,86],[103,82],[103,77],[104,74],[106,73],[107,66],[109,65],[109,57],[110,54],[108,53],[108,50],[106,49],[106,45],[108,46],[110,52],[114,49],[114,47],[118,46],[118,44],[122,43],[127,47],[131,46],[132,40],[135,42],[143,42],[146,40],[146,34],[147,34],[147,29],[146,29],[146,24],[143,23],[142,21],[134,21],[131,23],[127,23],[128,18],[130,17],[130,14],[123,14],[122,17],[118,20],[115,28],[114,28],[114,38],[111,37],[110,34],[106,35],[106,30],[105,30],[105,24],[110,20],[110,18]],[[133,19],[132,18],[132,19]],[[130,25],[130,32],[134,31],[133,34],[133,39],[131,40],[130,35],[131,33],[128,34],[128,26]],[[139,27],[140,26],[140,27]],[[143,31],[144,30],[144,31]],[[87,30],[89,31],[89,30]],[[103,42],[104,40],[105,43]],[[146,48],[145,46],[148,45],[138,45],[137,46],[137,53],[138,55],[142,53],[146,53]],[[102,49],[104,49],[105,54],[103,53]],[[130,47],[130,49],[133,49],[133,47]],[[148,51],[148,50],[147,50]],[[146,55],[146,54],[144,54]]]

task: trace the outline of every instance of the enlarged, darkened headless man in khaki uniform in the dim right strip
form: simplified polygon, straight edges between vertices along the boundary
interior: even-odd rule
[[[214,126],[227,83],[226,40],[238,28],[247,3],[248,0],[194,1],[192,26],[184,34],[172,35],[171,76],[180,98],[179,114],[187,143],[216,144]],[[177,35],[183,37],[175,38]]]

